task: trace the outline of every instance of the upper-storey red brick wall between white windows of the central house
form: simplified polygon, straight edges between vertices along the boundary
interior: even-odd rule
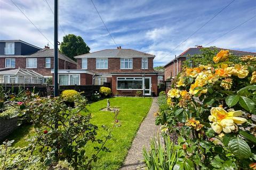
[[[148,69],[145,72],[153,72],[154,58],[148,58]],[[96,69],[96,58],[87,58],[87,70],[99,73],[114,73],[114,72],[144,72],[141,69],[142,58],[133,58],[133,69],[120,69],[120,58],[108,58],[108,69]],[[82,59],[77,58],[77,69],[81,69]]]

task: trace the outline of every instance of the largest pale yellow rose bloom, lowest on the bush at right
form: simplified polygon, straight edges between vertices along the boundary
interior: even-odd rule
[[[243,124],[247,120],[241,116],[242,111],[227,112],[223,107],[213,107],[211,109],[211,115],[208,117],[212,129],[216,133],[230,133],[235,130],[235,124]]]

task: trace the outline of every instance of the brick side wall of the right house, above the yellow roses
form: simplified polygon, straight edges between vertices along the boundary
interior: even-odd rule
[[[180,73],[182,71],[182,62],[185,61],[185,60],[186,60],[185,57],[181,57],[181,58],[178,59],[178,63],[179,63],[178,64],[179,65],[179,72],[178,73]],[[175,60],[174,62],[175,62],[174,64],[172,62],[172,63],[170,63],[169,65],[167,65],[165,67],[164,80],[166,80],[168,77],[174,77],[174,76],[176,77],[176,75],[177,75],[177,61]],[[174,67],[175,71],[173,71],[173,67]],[[174,75],[174,73],[175,73],[175,75]]]

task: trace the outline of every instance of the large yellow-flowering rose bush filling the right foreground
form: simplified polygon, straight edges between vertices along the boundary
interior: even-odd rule
[[[210,64],[186,67],[174,80],[156,124],[164,135],[180,135],[176,169],[250,169],[256,163],[256,57],[235,58],[228,50],[206,55]]]

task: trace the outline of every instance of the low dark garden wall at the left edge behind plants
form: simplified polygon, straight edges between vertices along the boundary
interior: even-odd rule
[[[17,127],[17,117],[2,119],[0,118],[0,141],[4,141],[7,135]]]

